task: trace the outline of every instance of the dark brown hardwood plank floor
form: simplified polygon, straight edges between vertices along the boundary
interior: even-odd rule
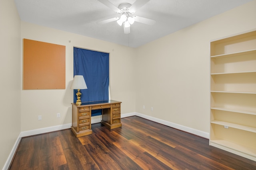
[[[209,146],[209,140],[137,116],[122,127],[92,125],[22,138],[10,170],[256,170],[256,162]]]

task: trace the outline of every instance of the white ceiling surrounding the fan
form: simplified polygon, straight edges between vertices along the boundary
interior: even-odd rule
[[[115,6],[136,0],[109,0]],[[98,0],[15,0],[22,21],[77,33],[104,41],[139,47],[206,20],[251,0],[150,0],[134,15],[156,20],[153,26],[135,22],[130,33],[116,21],[97,21],[120,15]]]

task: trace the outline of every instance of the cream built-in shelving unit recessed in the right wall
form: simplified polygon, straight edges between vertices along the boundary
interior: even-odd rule
[[[256,161],[256,30],[210,47],[210,145]]]

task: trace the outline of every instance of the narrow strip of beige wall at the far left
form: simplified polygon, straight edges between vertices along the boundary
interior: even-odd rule
[[[20,134],[20,17],[14,0],[0,1],[0,169]]]

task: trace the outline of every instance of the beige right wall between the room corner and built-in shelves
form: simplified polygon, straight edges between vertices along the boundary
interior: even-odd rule
[[[210,41],[256,29],[255,9],[254,0],[138,48],[136,111],[209,133]]]

